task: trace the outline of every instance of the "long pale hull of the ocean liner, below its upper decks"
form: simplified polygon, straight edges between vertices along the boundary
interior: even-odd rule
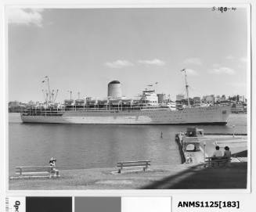
[[[24,116],[24,123],[56,124],[226,124],[229,106],[184,110],[68,111],[63,116]]]

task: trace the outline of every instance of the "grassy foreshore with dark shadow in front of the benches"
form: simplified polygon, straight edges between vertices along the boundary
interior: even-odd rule
[[[114,171],[117,171],[114,167],[60,170],[61,178],[57,179],[10,180],[9,189],[246,189],[247,186],[247,163],[207,168],[202,164],[154,165],[146,172]]]

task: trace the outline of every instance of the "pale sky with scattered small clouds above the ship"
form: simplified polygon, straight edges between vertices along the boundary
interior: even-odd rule
[[[43,101],[49,76],[56,101],[106,98],[121,81],[123,95],[148,84],[175,100],[247,96],[247,11],[211,8],[7,8],[9,101]],[[157,84],[155,84],[157,82]]]

